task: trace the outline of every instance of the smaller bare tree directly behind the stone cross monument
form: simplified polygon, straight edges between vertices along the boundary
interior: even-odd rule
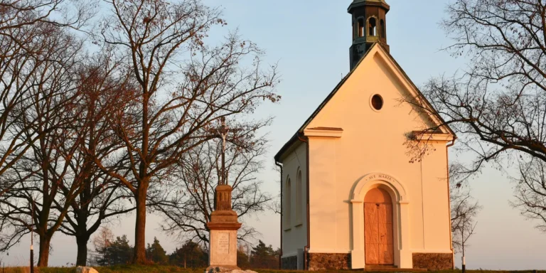
[[[262,181],[256,177],[263,170],[267,141],[255,139],[252,131],[243,134],[249,133],[252,136],[237,137],[235,143],[228,142],[225,155],[226,178],[233,188],[232,208],[239,218],[266,210],[272,200],[271,196],[260,191]],[[221,179],[221,154],[220,141],[208,141],[189,151],[178,162],[171,183],[164,185],[164,189],[169,191],[160,189],[170,194],[159,202],[152,202],[156,203],[156,210],[165,218],[162,225],[164,231],[177,233],[186,240],[203,245],[205,249],[208,249],[206,223],[214,210],[215,188]],[[254,228],[244,225],[237,233],[237,239],[249,242],[256,235]]]

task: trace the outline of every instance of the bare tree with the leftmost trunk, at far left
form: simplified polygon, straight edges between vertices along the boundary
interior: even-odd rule
[[[73,70],[82,42],[58,27],[40,42],[47,45],[40,56],[43,62],[29,79],[29,96],[16,107],[23,114],[12,127],[23,139],[41,137],[11,166],[16,183],[0,198],[0,218],[9,223],[2,232],[9,240],[0,247],[6,250],[33,229],[40,237],[38,266],[47,266],[51,237],[82,185],[68,168],[81,141],[71,124],[79,114]],[[62,191],[64,198],[58,198]],[[60,213],[55,215],[55,210]]]

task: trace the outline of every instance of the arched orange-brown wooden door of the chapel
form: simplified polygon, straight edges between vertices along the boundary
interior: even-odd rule
[[[394,264],[392,199],[382,188],[372,188],[364,198],[366,264]]]

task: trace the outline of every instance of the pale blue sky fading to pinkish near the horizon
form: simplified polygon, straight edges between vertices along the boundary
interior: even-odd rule
[[[209,6],[220,6],[228,26],[214,29],[210,42],[220,41],[227,31],[238,28],[267,52],[267,63],[278,63],[282,82],[277,92],[282,100],[276,105],[263,105],[257,110],[262,117],[275,117],[267,135],[269,154],[266,168],[259,178],[264,191],[279,192],[278,174],[273,171],[273,156],[304,123],[317,105],[328,95],[349,70],[351,20],[347,14],[350,0],[203,0]],[[441,50],[451,41],[438,23],[446,16],[445,0],[389,0],[387,42],[390,53],[407,75],[422,85],[430,77],[465,68],[464,59],[451,57]],[[302,103],[303,102],[303,103]],[[450,159],[464,160],[464,154]],[[476,235],[469,240],[466,264],[469,269],[546,269],[546,234],[534,228],[510,207],[513,185],[505,173],[488,168],[471,181],[472,195],[483,206],[476,218]],[[146,240],[158,237],[168,253],[180,246],[176,238],[159,230],[161,218],[149,215]],[[267,212],[246,219],[261,232],[267,245],[279,247],[279,216]],[[133,242],[134,215],[120,218],[111,225],[114,234],[127,235]],[[60,232],[58,232],[60,233]],[[75,262],[76,247],[71,237],[55,235],[51,266]],[[35,244],[35,248],[37,248]],[[28,240],[14,247],[9,256],[0,254],[6,264],[26,264]],[[460,267],[460,257],[456,257]]]

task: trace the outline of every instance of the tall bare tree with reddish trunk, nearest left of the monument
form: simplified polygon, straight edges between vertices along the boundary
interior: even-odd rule
[[[136,200],[134,262],[143,264],[149,188],[168,177],[184,154],[214,138],[207,129],[215,120],[279,100],[272,92],[277,74],[274,68],[262,72],[262,51],[235,34],[217,47],[205,45],[208,29],[225,23],[199,0],[108,3],[113,15],[103,21],[100,36],[129,65],[139,97],[113,125],[129,156],[129,173],[108,161],[95,163]],[[134,127],[127,119],[139,123]]]

